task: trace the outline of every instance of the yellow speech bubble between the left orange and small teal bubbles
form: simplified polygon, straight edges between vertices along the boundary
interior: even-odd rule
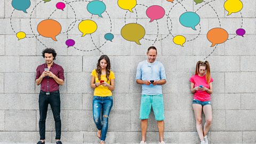
[[[97,30],[97,24],[92,20],[83,20],[79,23],[78,29],[83,33],[83,37],[86,34],[94,33]]]

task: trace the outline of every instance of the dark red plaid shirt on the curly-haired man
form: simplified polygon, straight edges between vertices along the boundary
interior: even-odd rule
[[[43,74],[44,68],[47,68],[46,63],[39,65],[36,68],[36,79],[38,79]],[[58,78],[64,81],[64,70],[60,65],[57,65],[56,63],[53,62],[50,68],[50,71],[55,76],[57,76]],[[59,84],[55,82],[52,77],[45,76],[41,82],[41,90],[44,92],[57,91],[59,90]]]

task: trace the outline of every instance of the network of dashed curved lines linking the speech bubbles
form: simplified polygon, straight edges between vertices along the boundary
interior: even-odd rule
[[[90,3],[90,2],[92,2],[92,1],[86,1],[86,0],[76,0],[76,1],[71,1],[71,2],[66,2],[65,0],[62,0],[62,1],[64,1],[66,5],[68,4],[68,5],[71,7],[71,9],[73,10],[74,15],[75,15],[75,20],[70,23],[70,25],[69,25],[67,31],[60,33],[60,34],[67,34],[67,38],[68,38],[68,32],[71,31],[71,30],[75,27],[76,22],[77,22],[77,21],[83,21],[82,19],[77,20],[76,12],[75,12],[74,8],[73,8],[70,4],[71,4],[71,3],[74,3],[74,2],[89,2],[89,3]],[[172,34],[172,28],[173,28],[172,20],[171,20],[171,18],[170,18],[170,16],[169,16],[169,15],[170,15],[170,12],[171,12],[172,9],[173,9],[176,5],[178,5],[178,4],[180,4],[186,12],[188,12],[188,10],[186,9],[186,7],[181,3],[181,2],[183,2],[183,1],[185,1],[185,0],[181,0],[181,1],[176,0],[176,1],[177,1],[177,3],[175,3],[175,4],[171,7],[170,11],[169,11],[167,14],[165,14],[165,15],[166,15],[166,18],[167,18],[167,19],[166,19],[166,26],[167,26],[167,29],[168,29],[169,33],[168,33],[165,37],[158,39],[158,35],[159,35],[159,25],[158,25],[158,21],[156,20],[156,24],[157,24],[157,35],[156,35],[156,38],[155,38],[155,39],[149,39],[149,38],[144,38],[144,37],[143,37],[143,39],[146,39],[147,41],[153,42],[152,45],[154,45],[157,41],[162,41],[163,39],[169,37],[170,35],[171,35],[172,37],[174,37],[174,35]],[[198,12],[202,7],[204,7],[205,5],[209,5],[209,6],[211,7],[211,9],[214,11],[214,13],[217,15],[217,18],[218,18],[218,21],[219,21],[219,27],[221,27],[221,21],[220,21],[219,15],[218,15],[217,11],[213,8],[213,6],[210,4],[211,2],[214,2],[214,1],[216,1],[216,0],[211,0],[211,1],[209,1],[209,2],[203,1],[204,4],[202,4],[194,13],[197,13],[197,12]],[[34,36],[26,36],[26,38],[34,38],[34,37],[35,37],[35,38],[37,39],[37,41],[39,41],[42,45],[44,45],[45,47],[47,47],[43,42],[41,42],[41,41],[38,39],[38,36],[41,36],[41,35],[36,35],[36,34],[34,33],[34,30],[33,30],[32,26],[31,26],[31,17],[32,17],[32,14],[33,14],[33,12],[35,11],[35,8],[36,8],[39,4],[41,4],[42,2],[43,2],[43,1],[38,2],[38,3],[33,7],[33,10],[32,10],[31,13],[30,13],[30,18],[29,18],[29,24],[30,24],[30,25],[29,25],[29,26],[30,26],[30,29],[31,29],[31,31],[32,31],[32,33],[33,33]],[[136,4],[136,6],[137,6],[137,5],[145,6],[146,8],[148,8],[148,6],[146,6],[146,5],[144,5],[144,4]],[[11,13],[10,25],[11,25],[11,28],[12,28],[13,32],[16,34],[17,32],[14,30],[14,28],[13,28],[13,26],[12,26],[12,17],[13,17],[14,11],[15,11],[15,9],[14,9],[14,10],[12,11],[12,13]],[[48,19],[50,19],[50,18],[52,17],[52,15],[53,15],[56,11],[57,11],[57,9],[55,9],[55,10],[50,14],[50,16],[48,17]],[[105,12],[107,13],[108,18],[109,18],[109,20],[110,20],[110,33],[111,33],[111,31],[112,31],[112,21],[111,21],[111,18],[110,18],[109,13],[108,13],[107,11],[105,11]],[[127,13],[128,13],[128,11],[126,11],[125,17],[124,17],[124,23],[125,23],[125,25],[126,25],[126,16],[127,16]],[[137,11],[137,9],[135,9],[135,8],[134,8],[134,13],[135,13],[135,17],[136,17],[136,22],[135,22],[135,23],[138,23],[138,18],[139,18],[139,17],[138,17],[138,11]],[[241,14],[241,28],[242,28],[242,27],[243,27],[243,15],[242,15],[242,12],[241,12],[241,11],[240,11],[240,14]],[[93,17],[93,14],[91,15],[91,19],[92,19],[92,17]],[[169,20],[170,20],[170,21],[169,21]],[[169,23],[169,22],[170,22],[170,23]],[[187,40],[186,42],[190,42],[190,41],[195,40],[195,39],[198,38],[198,36],[201,34],[201,25],[200,25],[200,23],[198,23],[198,24],[199,24],[199,33],[196,35],[195,38],[189,39],[189,40]],[[237,37],[237,36],[238,36],[238,35],[235,35],[234,37],[228,38],[227,40],[234,39],[234,38]],[[103,45],[105,45],[105,44],[107,43],[107,41],[103,42],[103,44],[101,44],[100,46],[97,46],[97,45],[94,43],[94,41],[93,41],[93,36],[92,36],[92,34],[90,34],[90,37],[91,37],[91,41],[92,41],[92,43],[93,43],[93,45],[94,45],[94,47],[95,47],[94,49],[91,49],[91,50],[82,50],[82,49],[78,49],[77,47],[73,46],[74,49],[79,50],[79,51],[84,51],[84,52],[89,52],[89,51],[98,50],[100,53],[102,53],[99,49],[100,49]],[[207,55],[207,57],[205,57],[204,59],[207,59],[208,57],[210,57],[210,55],[215,51],[215,49],[217,49],[217,46],[218,46],[218,44],[214,46],[213,51],[212,51],[209,55]]]

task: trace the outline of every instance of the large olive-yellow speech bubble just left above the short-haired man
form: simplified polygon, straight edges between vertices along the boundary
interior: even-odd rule
[[[145,29],[138,23],[128,23],[121,29],[121,35],[127,41],[140,44],[140,39],[145,36]]]

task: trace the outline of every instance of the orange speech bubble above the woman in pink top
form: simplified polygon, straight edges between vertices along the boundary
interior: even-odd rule
[[[228,32],[223,28],[213,28],[207,33],[207,39],[212,43],[211,47],[227,41]]]

